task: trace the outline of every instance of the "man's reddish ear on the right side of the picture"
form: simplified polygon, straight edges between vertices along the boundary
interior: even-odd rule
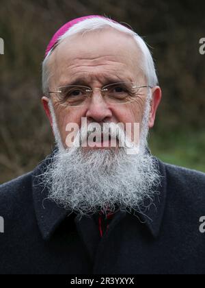
[[[154,120],[156,117],[156,110],[161,102],[161,88],[155,86],[152,88],[152,101],[151,101],[151,110],[150,110],[150,119],[149,119],[149,128],[154,126]]]

